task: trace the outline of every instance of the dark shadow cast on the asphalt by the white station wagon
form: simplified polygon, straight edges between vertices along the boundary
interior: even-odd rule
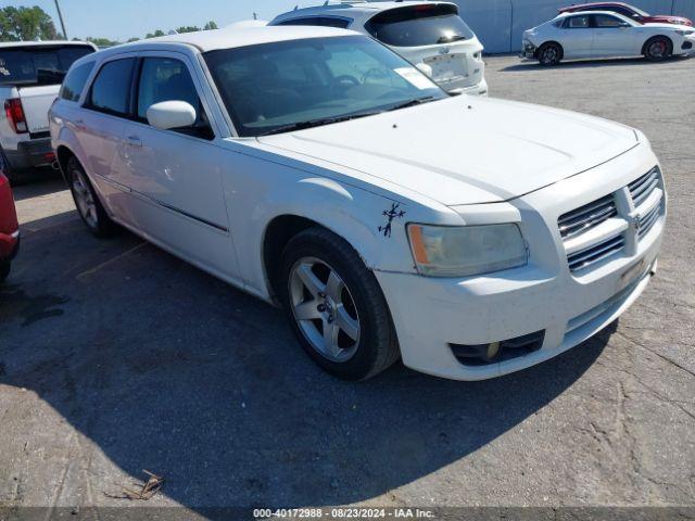
[[[555,399],[615,329],[495,380],[399,364],[348,383],[309,361],[280,312],[130,234],[98,241],[74,221],[26,242],[0,290],[0,383],[93,442],[88,474],[101,453],[131,476],[164,475],[163,493],[201,512],[351,504],[412,483]]]

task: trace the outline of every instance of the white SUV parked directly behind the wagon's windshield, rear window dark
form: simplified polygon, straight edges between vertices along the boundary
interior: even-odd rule
[[[295,9],[270,25],[349,28],[370,35],[450,92],[486,94],[483,47],[451,2],[343,2]]]

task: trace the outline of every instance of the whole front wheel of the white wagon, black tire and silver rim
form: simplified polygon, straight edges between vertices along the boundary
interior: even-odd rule
[[[381,288],[348,242],[324,228],[308,228],[290,240],[281,263],[278,288],[287,318],[318,366],[358,381],[399,359]]]

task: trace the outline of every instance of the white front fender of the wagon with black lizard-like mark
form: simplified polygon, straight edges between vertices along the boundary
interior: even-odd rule
[[[266,297],[271,293],[265,272],[264,240],[269,224],[282,216],[309,219],[333,231],[355,249],[370,269],[415,271],[406,224],[431,220],[428,208],[314,171],[253,156],[239,160],[237,166],[243,175],[225,175],[223,186],[240,275],[249,290]]]

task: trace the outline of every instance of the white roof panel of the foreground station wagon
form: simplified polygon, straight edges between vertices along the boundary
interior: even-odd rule
[[[276,41],[300,40],[306,38],[332,38],[341,36],[355,36],[358,33],[337,29],[333,27],[301,27],[301,26],[232,26],[230,28],[199,30],[180,35],[167,35],[157,38],[149,38],[131,43],[124,43],[104,49],[99,54],[106,56],[124,52],[138,52],[144,50],[167,49],[188,46],[200,52],[215,51],[218,49],[233,49],[239,47],[273,43]]]

